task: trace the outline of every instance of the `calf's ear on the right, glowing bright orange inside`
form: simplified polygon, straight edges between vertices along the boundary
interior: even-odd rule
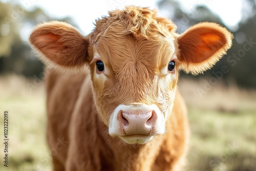
[[[199,23],[177,37],[178,59],[186,73],[210,69],[232,45],[233,35],[215,23]]]

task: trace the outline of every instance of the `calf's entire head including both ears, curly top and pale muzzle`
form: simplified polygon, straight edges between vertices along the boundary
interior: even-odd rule
[[[94,102],[109,134],[144,144],[165,132],[179,70],[202,73],[231,46],[231,33],[214,23],[175,31],[155,11],[126,7],[98,19],[88,36],[50,22],[36,26],[29,41],[50,67],[83,72],[89,66]]]

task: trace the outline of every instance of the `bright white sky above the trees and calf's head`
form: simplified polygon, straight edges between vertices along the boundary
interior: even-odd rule
[[[80,28],[81,33],[88,34],[93,29],[93,22],[102,15],[107,15],[109,10],[122,9],[125,5],[136,5],[142,7],[157,8],[160,0],[2,0],[2,2],[16,2],[26,10],[33,10],[34,7],[42,8],[48,15],[58,18],[70,16]],[[241,7],[244,0],[180,0],[182,9],[193,13],[196,5],[205,5],[218,14],[224,24],[230,29],[236,28],[241,19]],[[232,6],[230,6],[232,4]],[[163,15],[164,16],[164,13]],[[29,34],[29,33],[27,33]]]

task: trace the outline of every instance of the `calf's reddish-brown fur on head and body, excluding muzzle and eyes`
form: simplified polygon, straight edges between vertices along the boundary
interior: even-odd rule
[[[178,71],[210,68],[230,48],[232,35],[213,23],[182,35],[175,31],[155,11],[133,6],[98,19],[87,37],[61,22],[35,27],[29,40],[41,60],[54,69],[79,71],[47,72],[48,143],[53,148],[58,138],[69,141],[53,155],[54,170],[180,169],[189,128],[176,91]],[[102,73],[95,67],[99,59]],[[176,63],[173,72],[167,69],[170,60]],[[126,144],[108,134],[116,107],[135,102],[156,104],[167,118],[165,133],[146,144]]]

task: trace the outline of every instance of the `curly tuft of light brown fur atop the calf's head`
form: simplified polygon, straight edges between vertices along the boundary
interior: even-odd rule
[[[132,34],[135,38],[152,38],[156,33],[167,36],[176,31],[176,25],[166,18],[157,17],[155,10],[128,6],[124,10],[109,12],[109,16],[96,20],[94,41],[106,32]]]

